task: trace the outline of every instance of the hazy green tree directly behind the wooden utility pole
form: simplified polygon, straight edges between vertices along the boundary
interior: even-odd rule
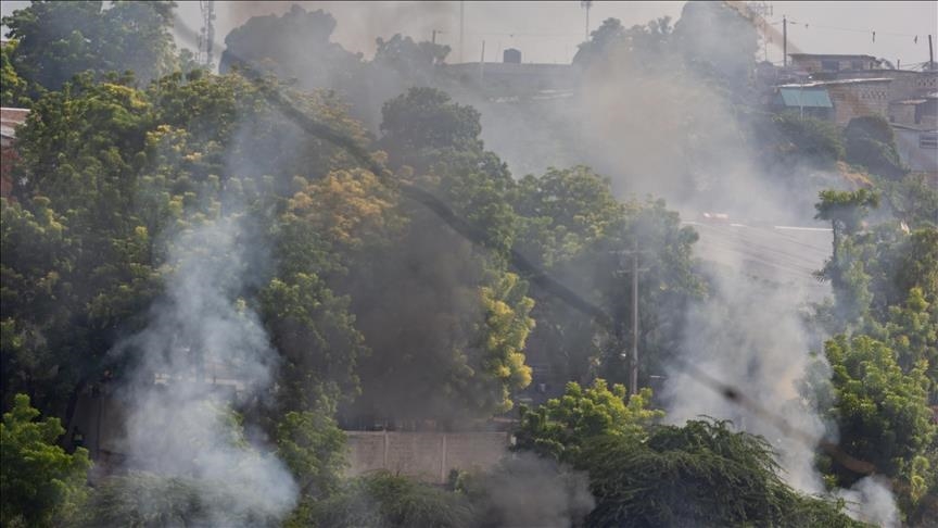
[[[676,353],[677,335],[671,329],[680,327],[685,303],[706,292],[694,273],[696,232],[682,227],[663,201],[621,203],[609,180],[587,167],[527,176],[516,197],[518,251],[587,298],[601,300],[619,317],[628,317],[632,293],[630,278],[621,273],[631,263],[621,259],[641,246],[641,266],[649,268],[638,291],[639,304],[649,307],[639,313],[639,347],[646,351],[641,373],[660,372],[669,354]],[[583,314],[536,290],[534,294],[538,324],[531,337],[532,361],[550,364],[561,373],[561,382],[585,382],[599,364],[601,375],[625,379],[619,351],[631,335],[610,336]],[[597,335],[603,340],[594,339]]]

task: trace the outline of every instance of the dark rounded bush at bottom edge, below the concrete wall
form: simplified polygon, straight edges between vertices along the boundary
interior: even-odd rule
[[[473,526],[472,511],[461,496],[390,473],[351,480],[339,493],[314,505],[309,523],[324,528]]]

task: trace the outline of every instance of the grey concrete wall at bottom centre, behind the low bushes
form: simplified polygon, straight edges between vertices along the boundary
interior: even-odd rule
[[[443,483],[451,469],[486,469],[508,452],[506,432],[346,431],[346,475],[386,469]]]

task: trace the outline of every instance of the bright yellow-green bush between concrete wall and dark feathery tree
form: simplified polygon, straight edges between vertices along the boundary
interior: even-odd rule
[[[646,408],[651,390],[643,389],[625,403],[625,387],[610,388],[603,379],[593,387],[567,384],[559,399],[535,410],[521,410],[521,425],[515,433],[516,449],[534,451],[563,462],[578,462],[590,439],[621,437],[629,442],[646,439],[646,427],[664,413]]]

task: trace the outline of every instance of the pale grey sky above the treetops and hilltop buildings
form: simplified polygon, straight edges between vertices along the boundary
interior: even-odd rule
[[[10,14],[28,2],[4,1],[2,13]],[[334,40],[343,47],[370,56],[375,38],[403,33],[416,39],[449,45],[448,62],[479,61],[482,42],[485,60],[498,61],[505,48],[517,48],[524,62],[566,63],[576,52],[586,32],[586,10],[580,1],[441,1],[441,2],[216,2],[217,41],[232,27],[257,14],[281,13],[292,3],[306,10],[325,9],[338,20]],[[888,59],[902,65],[928,60],[928,34],[938,37],[938,1],[877,2],[757,2],[771,7],[766,16],[781,34],[782,16],[788,26],[788,51],[804,53],[863,53]],[[179,1],[179,17],[198,29],[201,24],[198,1]],[[593,2],[590,29],[603,20],[617,17],[623,25],[645,24],[660,16],[680,17],[684,2]],[[459,49],[459,14],[464,12],[465,40]],[[876,32],[875,41],[873,32]],[[917,43],[915,36],[918,37]],[[185,42],[180,42],[185,45]],[[760,53],[760,59],[782,61],[782,42],[776,35]],[[220,51],[220,50],[219,50]]]

